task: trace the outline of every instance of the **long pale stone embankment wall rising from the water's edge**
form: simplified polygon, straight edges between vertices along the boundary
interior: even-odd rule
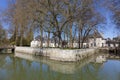
[[[97,49],[59,49],[59,48],[32,48],[16,47],[15,53],[46,56],[58,61],[79,61],[97,52]]]

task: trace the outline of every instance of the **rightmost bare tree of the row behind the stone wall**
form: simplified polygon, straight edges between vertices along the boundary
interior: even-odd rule
[[[78,10],[78,44],[83,48],[83,43],[87,37],[104,21],[104,18],[95,10],[94,0],[81,0],[81,6]]]

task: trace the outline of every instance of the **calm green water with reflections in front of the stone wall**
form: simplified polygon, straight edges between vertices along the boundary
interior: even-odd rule
[[[89,58],[63,63],[18,54],[0,54],[0,80],[120,80],[120,60],[95,63]]]

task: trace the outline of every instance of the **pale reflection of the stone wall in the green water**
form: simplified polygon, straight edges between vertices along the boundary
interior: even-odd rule
[[[60,72],[64,74],[74,74],[78,68],[82,68],[84,65],[92,62],[95,58],[95,56],[89,57],[88,59],[84,59],[81,62],[59,62],[59,61],[53,61],[49,60],[45,57],[37,57],[33,55],[23,54],[23,53],[16,53],[16,57],[27,59],[30,61],[36,61],[43,64],[46,64],[49,66],[50,70],[53,70],[55,72]]]

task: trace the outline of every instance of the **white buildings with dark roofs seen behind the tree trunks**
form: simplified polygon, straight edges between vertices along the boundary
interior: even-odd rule
[[[31,47],[40,47],[41,45],[41,40],[40,36],[37,36],[35,40],[31,42]],[[43,47],[48,47],[48,39],[47,37],[42,37],[42,42],[43,42]],[[67,44],[66,44],[67,43]],[[66,45],[64,46],[70,46],[70,43],[65,41]],[[80,43],[81,44],[81,43]],[[105,47],[106,45],[106,40],[102,37],[102,35],[99,32],[94,32],[93,34],[89,35],[87,40],[83,43],[83,48],[95,48],[95,47]],[[49,47],[58,47],[58,40],[54,41],[54,38],[50,38],[49,40]],[[76,39],[73,42],[73,48],[78,48],[78,39]]]

